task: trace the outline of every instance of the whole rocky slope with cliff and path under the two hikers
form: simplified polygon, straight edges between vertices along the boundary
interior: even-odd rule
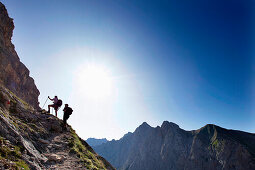
[[[114,169],[62,120],[38,111],[39,91],[11,43],[0,3],[0,169]]]

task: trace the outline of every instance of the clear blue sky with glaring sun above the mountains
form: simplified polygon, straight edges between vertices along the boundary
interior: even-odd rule
[[[1,2],[41,106],[48,95],[69,103],[82,138],[164,120],[255,132],[252,1]]]

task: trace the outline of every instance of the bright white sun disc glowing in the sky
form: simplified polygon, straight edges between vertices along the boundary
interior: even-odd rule
[[[103,66],[87,64],[76,72],[78,88],[84,97],[101,100],[111,97],[113,80],[110,72]]]

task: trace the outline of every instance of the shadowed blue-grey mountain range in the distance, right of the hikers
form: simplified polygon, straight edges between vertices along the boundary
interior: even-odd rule
[[[165,121],[140,125],[120,140],[93,147],[117,169],[255,169],[255,134],[208,124],[185,131]]]

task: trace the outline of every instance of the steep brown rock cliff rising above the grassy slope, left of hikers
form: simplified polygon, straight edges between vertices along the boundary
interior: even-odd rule
[[[20,62],[11,42],[13,29],[13,19],[8,16],[5,6],[0,2],[0,84],[38,109],[40,92],[33,78],[29,76],[29,70]]]

